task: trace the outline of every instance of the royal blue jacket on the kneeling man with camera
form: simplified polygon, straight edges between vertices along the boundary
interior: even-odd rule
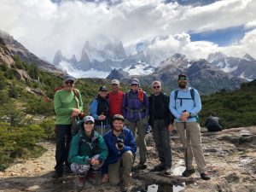
[[[113,164],[117,162],[122,155],[125,153],[125,151],[131,151],[133,155],[136,154],[137,150],[137,144],[135,142],[135,139],[132,135],[132,132],[126,128],[123,129],[119,137],[116,137],[113,134],[113,130],[108,131],[105,136],[103,137],[105,140],[105,143],[108,146],[108,158],[105,161],[104,165],[102,166],[102,174],[108,173],[108,164]],[[124,148],[122,150],[119,150],[115,147],[115,144],[117,143],[117,139],[123,139],[124,140]]]

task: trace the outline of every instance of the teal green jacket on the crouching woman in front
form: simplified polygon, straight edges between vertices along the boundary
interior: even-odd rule
[[[80,124],[79,133],[73,137],[68,161],[70,163],[90,165],[90,158],[96,154],[99,154],[101,162],[106,160],[108,157],[108,147],[103,137],[94,130],[90,138],[86,137],[82,125],[83,122]]]

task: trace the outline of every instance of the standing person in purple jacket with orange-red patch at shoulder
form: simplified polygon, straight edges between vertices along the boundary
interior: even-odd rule
[[[148,95],[139,89],[139,80],[131,79],[131,90],[125,93],[122,103],[122,111],[125,117],[125,125],[135,136],[136,128],[139,137],[140,162],[137,169],[147,168],[147,146],[145,142],[146,124],[148,123]]]

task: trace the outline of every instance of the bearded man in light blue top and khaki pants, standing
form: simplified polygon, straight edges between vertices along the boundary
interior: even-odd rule
[[[201,127],[197,122],[197,113],[201,111],[201,98],[197,90],[189,87],[185,74],[179,74],[178,89],[170,96],[170,110],[176,118],[177,131],[185,148],[186,170],[183,177],[189,177],[195,172],[192,165],[193,156],[201,178],[210,179],[206,172],[206,161],[201,148]]]

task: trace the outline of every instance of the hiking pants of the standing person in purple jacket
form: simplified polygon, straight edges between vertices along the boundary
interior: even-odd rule
[[[145,141],[146,123],[148,123],[147,119],[139,119],[135,122],[125,120],[126,126],[128,127],[128,129],[131,130],[134,137],[135,137],[136,127],[137,127],[137,133],[138,133],[138,138],[139,138],[140,162],[142,164],[147,162],[147,146],[146,146],[146,141]]]

